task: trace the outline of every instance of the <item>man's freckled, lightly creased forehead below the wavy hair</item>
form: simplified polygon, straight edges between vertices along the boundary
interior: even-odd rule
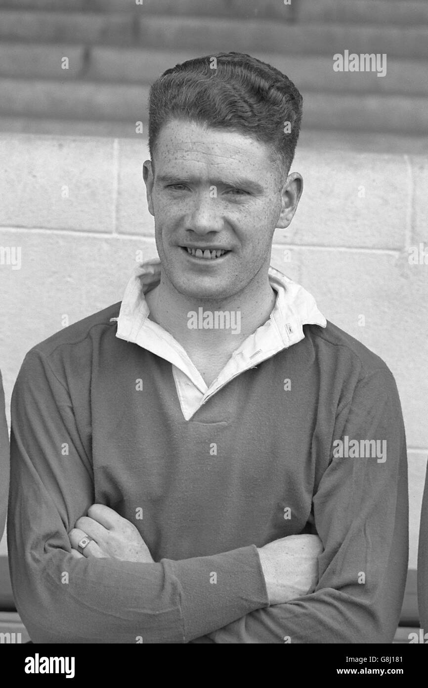
[[[236,171],[260,176],[275,175],[267,144],[239,131],[213,129],[188,120],[172,120],[159,131],[154,151],[156,172],[200,173]]]

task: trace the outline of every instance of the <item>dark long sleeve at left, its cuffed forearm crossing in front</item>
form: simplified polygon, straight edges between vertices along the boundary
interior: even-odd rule
[[[94,488],[91,447],[66,382],[32,350],[12,395],[8,548],[32,640],[185,643],[266,606],[254,545],[153,564],[72,557],[67,533]]]

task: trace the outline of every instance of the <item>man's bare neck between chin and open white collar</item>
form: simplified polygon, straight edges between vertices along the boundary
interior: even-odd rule
[[[150,320],[170,332],[186,351],[212,352],[233,351],[265,323],[272,312],[275,295],[265,273],[245,290],[222,301],[190,298],[177,292],[162,270],[159,285],[146,294],[146,301]],[[190,312],[192,315],[188,316]],[[216,316],[216,312],[226,315]]]

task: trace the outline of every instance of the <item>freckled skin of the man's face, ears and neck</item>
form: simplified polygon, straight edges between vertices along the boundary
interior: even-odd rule
[[[249,136],[172,120],[159,132],[154,173],[144,162],[161,260],[160,283],[146,293],[149,317],[183,346],[207,385],[275,302],[268,278],[273,233],[289,226],[303,180],[293,173],[281,186],[270,153]],[[180,248],[189,244],[230,252],[197,261]],[[188,313],[201,307],[239,312],[240,333],[189,329]]]

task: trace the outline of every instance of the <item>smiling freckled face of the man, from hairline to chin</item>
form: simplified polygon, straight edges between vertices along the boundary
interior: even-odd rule
[[[282,194],[266,145],[172,120],[159,132],[154,163],[154,178],[144,163],[148,208],[162,268],[179,293],[227,299],[267,270]],[[225,253],[212,257],[214,250]]]

